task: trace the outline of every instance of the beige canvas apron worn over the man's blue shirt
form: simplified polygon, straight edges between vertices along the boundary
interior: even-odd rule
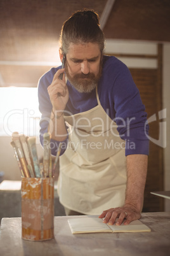
[[[125,142],[117,125],[98,106],[65,117],[69,144],[60,157],[58,194],[70,210],[98,215],[122,206],[126,190]]]

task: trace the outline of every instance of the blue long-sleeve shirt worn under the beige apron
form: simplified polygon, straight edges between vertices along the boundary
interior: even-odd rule
[[[42,113],[40,122],[41,144],[43,144],[42,135],[48,131],[48,118],[52,109],[47,88],[51,84],[56,71],[60,68],[61,66],[52,68],[39,80],[39,110]],[[72,115],[91,110],[91,108],[97,106],[95,90],[91,93],[80,93],[74,89],[68,80],[67,87],[69,89],[69,101],[65,110]],[[133,82],[131,73],[121,60],[115,57],[103,56],[103,70],[98,83],[98,96],[107,115],[116,122],[119,135],[126,141],[126,155],[148,155],[147,113],[145,113],[145,106],[141,102],[139,90]],[[63,141],[61,155],[67,148],[67,141],[68,139]],[[53,145],[51,153],[56,155],[59,141],[51,139],[51,142],[51,145]],[[135,147],[129,146],[131,143]]]

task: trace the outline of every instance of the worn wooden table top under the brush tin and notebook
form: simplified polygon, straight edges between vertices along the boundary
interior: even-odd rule
[[[169,256],[170,213],[142,213],[141,222],[151,232],[72,234],[67,220],[84,216],[55,217],[55,239],[21,238],[21,218],[3,218],[0,255],[3,256]]]

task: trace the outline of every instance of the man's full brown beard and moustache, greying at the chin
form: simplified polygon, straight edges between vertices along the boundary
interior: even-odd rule
[[[96,85],[98,85],[98,82],[100,80],[101,76],[101,62],[100,62],[100,69],[98,72],[98,75],[95,76],[93,73],[88,73],[87,75],[84,73],[76,74],[73,77],[70,76],[67,61],[65,62],[65,74],[69,80],[69,82],[74,86],[76,90],[79,92],[92,92]]]

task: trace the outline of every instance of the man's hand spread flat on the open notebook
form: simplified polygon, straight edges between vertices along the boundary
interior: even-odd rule
[[[124,225],[128,225],[133,220],[138,220],[141,218],[139,211],[136,211],[133,206],[124,205],[123,207],[110,208],[103,211],[99,218],[103,218],[103,223],[108,223],[109,225],[121,225],[124,219]],[[116,221],[116,219],[118,220]]]

